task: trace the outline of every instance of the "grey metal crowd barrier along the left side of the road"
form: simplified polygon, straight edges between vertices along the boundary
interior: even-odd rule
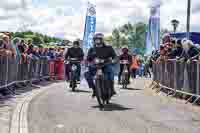
[[[16,85],[18,83],[32,84],[33,81],[41,81],[55,78],[54,66],[50,63],[54,61],[49,60],[46,56],[40,58],[27,57],[27,62],[18,61],[15,57],[0,55],[0,91]],[[55,64],[53,64],[55,65]],[[64,73],[63,73],[64,74]]]

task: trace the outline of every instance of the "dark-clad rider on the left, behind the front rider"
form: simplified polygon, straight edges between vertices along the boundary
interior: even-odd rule
[[[83,49],[80,47],[79,41],[74,41],[73,46],[71,48],[69,48],[65,54],[65,60],[69,60],[71,58],[75,58],[75,59],[77,59],[77,61],[80,61],[80,62],[84,58],[84,52],[83,52]],[[81,64],[76,63],[76,66],[77,66],[77,80],[80,81]]]

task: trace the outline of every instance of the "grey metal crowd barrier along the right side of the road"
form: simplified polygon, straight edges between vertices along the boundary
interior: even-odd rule
[[[167,60],[154,63],[153,80],[162,88],[189,96],[196,103],[200,99],[200,62],[181,63],[176,60]]]

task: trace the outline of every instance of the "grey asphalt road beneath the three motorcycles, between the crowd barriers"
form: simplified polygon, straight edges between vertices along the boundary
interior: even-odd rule
[[[105,111],[100,111],[85,83],[78,93],[71,92],[64,82],[58,83],[31,102],[29,132],[200,133],[200,112],[147,94],[144,80],[137,80],[131,87],[117,87],[118,95]]]

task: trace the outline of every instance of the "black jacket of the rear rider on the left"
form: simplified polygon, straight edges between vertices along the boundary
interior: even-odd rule
[[[84,52],[81,48],[69,48],[67,53],[65,54],[65,60],[68,58],[77,58],[78,60],[82,61],[84,57]]]

